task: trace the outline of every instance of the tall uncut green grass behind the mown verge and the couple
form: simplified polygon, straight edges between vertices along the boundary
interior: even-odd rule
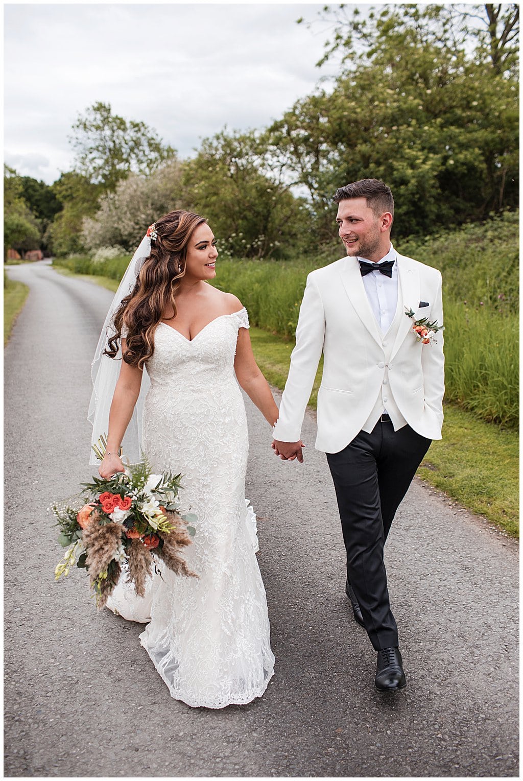
[[[516,428],[519,418],[518,213],[486,225],[398,245],[443,273],[446,399],[479,418]],[[284,262],[219,260],[215,284],[237,295],[254,326],[294,338],[307,274],[343,256],[340,246]],[[74,273],[119,280],[129,258],[60,260]]]

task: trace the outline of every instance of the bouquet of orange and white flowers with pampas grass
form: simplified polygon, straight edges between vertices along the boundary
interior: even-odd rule
[[[103,457],[102,439],[94,451]],[[69,575],[75,563],[87,569],[101,608],[123,567],[141,597],[155,558],[162,559],[177,575],[197,577],[180,556],[194,536],[194,527],[189,524],[196,519],[192,513],[179,513],[180,477],[153,474],[143,458],[109,480],[94,477],[92,483],[82,483],[80,501],[73,506],[54,505],[59,543],[67,548],[56,565],[55,580]]]

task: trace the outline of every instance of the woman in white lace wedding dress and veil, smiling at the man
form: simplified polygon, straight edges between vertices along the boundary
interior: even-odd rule
[[[278,408],[254,360],[247,311],[208,284],[217,256],[197,214],[169,212],[150,226],[101,333],[89,415],[95,441],[109,413],[102,477],[123,471],[120,444],[131,461],[144,451],[154,472],[183,476],[180,502],[197,515],[185,558],[199,578],[162,568],[137,597],[123,576],[108,606],[148,622],[141,644],[171,696],[206,708],[260,697],[274,672],[255,516],[244,496],[240,387],[271,426]]]

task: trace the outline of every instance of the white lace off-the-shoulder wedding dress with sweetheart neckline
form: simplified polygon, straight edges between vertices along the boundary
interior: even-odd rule
[[[244,497],[247,419],[233,362],[247,311],[222,315],[189,341],[160,323],[148,361],[144,451],[153,471],[183,475],[183,510],[197,515],[185,549],[200,576],[160,565],[145,597],[120,580],[108,607],[148,622],[141,644],[169,691],[193,707],[244,704],[274,672],[269,619],[255,551],[255,515]]]

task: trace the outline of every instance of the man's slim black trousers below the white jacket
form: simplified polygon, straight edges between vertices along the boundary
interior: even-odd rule
[[[376,651],[397,646],[390,610],[383,545],[431,440],[390,421],[360,431],[339,453],[327,453],[347,549],[347,580],[361,607]]]

